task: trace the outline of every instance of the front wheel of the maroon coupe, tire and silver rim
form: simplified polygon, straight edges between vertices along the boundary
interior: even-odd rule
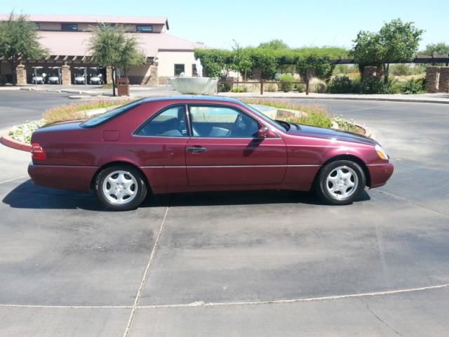
[[[366,176],[354,161],[337,160],[323,166],[315,181],[315,190],[327,204],[352,204],[365,190]]]

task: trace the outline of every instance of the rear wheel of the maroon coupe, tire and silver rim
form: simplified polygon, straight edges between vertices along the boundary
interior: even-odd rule
[[[100,171],[95,187],[102,204],[112,211],[137,209],[147,197],[142,173],[128,165],[109,166]]]

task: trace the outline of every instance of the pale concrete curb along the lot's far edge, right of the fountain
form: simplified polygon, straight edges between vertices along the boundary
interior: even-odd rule
[[[225,96],[225,95],[220,95]],[[399,103],[436,103],[449,104],[448,100],[429,100],[429,99],[404,99],[404,98],[370,98],[370,97],[323,97],[323,96],[264,96],[264,95],[227,95],[230,98],[258,98],[258,99],[284,99],[284,100],[364,100],[377,102],[399,102]]]

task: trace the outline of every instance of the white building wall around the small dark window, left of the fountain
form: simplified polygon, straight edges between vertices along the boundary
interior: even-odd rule
[[[195,64],[193,51],[159,51],[157,53],[158,76],[175,76],[175,65],[184,65],[185,76],[192,77],[192,65]]]

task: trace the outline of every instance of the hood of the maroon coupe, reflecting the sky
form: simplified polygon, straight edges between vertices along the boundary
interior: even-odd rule
[[[290,128],[290,130],[288,130],[288,134],[297,136],[311,136],[335,140],[344,140],[347,142],[361,143],[368,145],[377,144],[375,140],[373,140],[372,138],[368,138],[366,136],[361,136],[356,133],[346,131],[335,130],[334,128],[319,128],[317,126],[300,125],[299,128],[296,128],[296,126],[293,125]]]

